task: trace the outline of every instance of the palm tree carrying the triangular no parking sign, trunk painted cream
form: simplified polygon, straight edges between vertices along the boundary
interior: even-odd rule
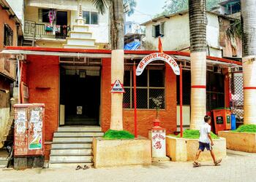
[[[111,83],[124,82],[124,9],[123,0],[92,0],[101,14],[110,8]],[[111,93],[111,130],[123,130],[123,94]]]

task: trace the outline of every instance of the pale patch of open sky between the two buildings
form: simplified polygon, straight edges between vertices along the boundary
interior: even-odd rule
[[[137,0],[135,13],[130,17],[127,16],[127,21],[135,21],[136,23],[144,23],[151,20],[154,15],[163,11],[165,0]]]

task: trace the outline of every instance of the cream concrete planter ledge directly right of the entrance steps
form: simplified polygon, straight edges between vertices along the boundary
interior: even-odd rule
[[[94,167],[151,165],[151,141],[93,139]]]

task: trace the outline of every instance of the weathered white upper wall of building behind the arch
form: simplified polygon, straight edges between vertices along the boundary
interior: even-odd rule
[[[207,14],[208,25],[206,26],[206,41],[210,48],[210,55],[222,57],[219,50],[219,20],[217,15]],[[152,25],[165,22],[165,36],[161,38],[163,50],[181,50],[190,46],[189,41],[189,14],[176,15],[170,19],[164,18],[157,23],[146,25],[146,41],[151,42],[154,47],[158,45],[158,39],[152,36]]]

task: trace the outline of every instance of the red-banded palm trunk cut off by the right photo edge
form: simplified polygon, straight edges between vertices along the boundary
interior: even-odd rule
[[[256,1],[241,1],[244,124],[256,124]]]

